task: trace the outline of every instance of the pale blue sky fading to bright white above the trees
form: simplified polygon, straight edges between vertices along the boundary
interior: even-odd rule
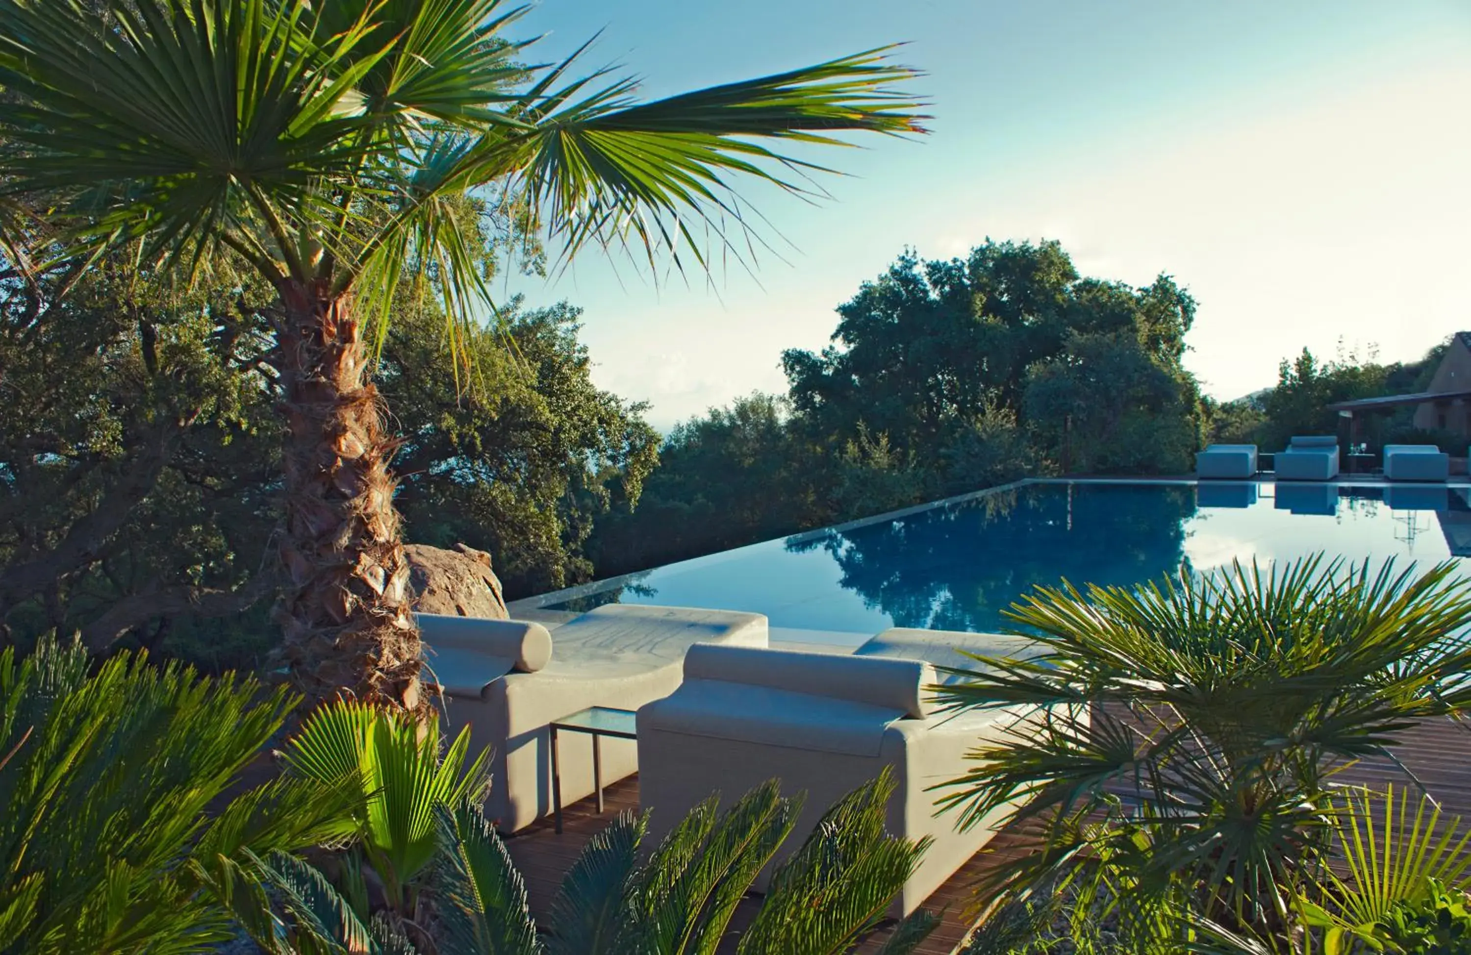
[[[584,309],[594,380],[668,428],[784,391],[783,349],[905,247],[1061,240],[1078,271],[1199,302],[1203,390],[1272,384],[1303,347],[1380,361],[1471,330],[1471,0],[543,0],[528,59],[602,31],[588,66],[641,94],[765,75],[894,41],[933,132],[822,159],[830,199],[743,190],[783,238],[755,275],[650,277],[584,253],[502,294]]]

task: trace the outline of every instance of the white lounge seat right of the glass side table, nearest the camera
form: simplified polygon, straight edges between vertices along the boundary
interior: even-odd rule
[[[927,687],[933,664],[974,665],[952,649],[1016,655],[1028,643],[993,634],[888,630],[852,656],[778,649],[696,646],[684,683],[638,711],[638,793],[650,837],[662,839],[712,792],[728,805],[769,778],[806,793],[802,815],[774,862],[794,852],[841,796],[887,765],[897,789],[888,831],[934,845],[905,884],[891,915],[916,908],[994,834],[1008,812],[956,831],[958,814],[937,814],[930,787],[968,770],[983,739],[1018,731],[1015,711],[940,714]],[[769,871],[758,880],[765,889]]]

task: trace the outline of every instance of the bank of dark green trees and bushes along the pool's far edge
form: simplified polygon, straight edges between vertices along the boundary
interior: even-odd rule
[[[1068,472],[1180,474],[1202,427],[1194,300],[1081,278],[1053,241],[902,255],[783,355],[788,391],[675,428],[640,509],[594,534],[602,575]]]

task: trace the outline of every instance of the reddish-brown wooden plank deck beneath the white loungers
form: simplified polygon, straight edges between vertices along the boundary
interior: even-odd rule
[[[1422,724],[1406,733],[1406,742],[1396,756],[1440,802],[1447,815],[1459,815],[1471,821],[1471,727],[1440,720]],[[1344,784],[1383,787],[1412,786],[1405,773],[1390,759],[1365,759],[1339,774]],[[615,814],[638,808],[638,778],[630,777],[605,790],[606,809],[596,812],[594,800],[584,799],[563,814],[563,833],[553,831],[552,820],[543,820],[506,840],[518,868],[527,880],[531,911],[544,918],[552,898],[556,895],[562,876],[571,868],[583,846],[599,833]],[[919,955],[953,955],[974,926],[972,886],[997,862],[1015,858],[1024,851],[1024,840],[1011,831],[1000,831],[990,845],[977,853],[961,871],[944,883],[927,908],[941,912],[940,927],[918,949]],[[758,902],[747,899],[744,911],[733,921],[731,937],[722,952],[734,951],[740,927],[755,912]],[[859,951],[874,952],[883,943],[886,930],[880,930]]]

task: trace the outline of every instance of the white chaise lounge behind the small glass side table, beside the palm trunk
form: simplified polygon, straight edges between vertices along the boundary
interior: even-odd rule
[[[485,815],[513,833],[552,812],[547,725],[587,706],[638,709],[668,696],[697,643],[766,646],[761,614],[613,603],[556,628],[534,622],[418,615],[430,675],[444,690],[447,728],[490,746]],[[563,805],[593,792],[591,737],[562,733]],[[602,740],[603,784],[638,770],[631,740]]]

